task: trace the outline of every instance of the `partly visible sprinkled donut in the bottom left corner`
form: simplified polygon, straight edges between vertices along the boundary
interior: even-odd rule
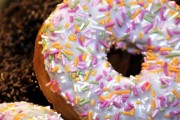
[[[0,120],[63,120],[50,107],[27,102],[1,103]]]

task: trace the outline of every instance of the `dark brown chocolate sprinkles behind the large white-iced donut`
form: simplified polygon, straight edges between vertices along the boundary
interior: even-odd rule
[[[61,0],[16,0],[0,11],[0,103],[48,105],[33,70],[35,38]]]

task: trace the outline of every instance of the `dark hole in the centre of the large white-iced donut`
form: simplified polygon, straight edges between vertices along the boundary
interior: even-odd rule
[[[108,61],[114,70],[125,77],[138,75],[141,71],[141,64],[144,62],[143,55],[131,54],[126,50],[111,47],[107,53]]]

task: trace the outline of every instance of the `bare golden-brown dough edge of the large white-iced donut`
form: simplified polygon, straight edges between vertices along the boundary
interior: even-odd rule
[[[44,29],[45,25],[42,25],[35,42],[34,49],[34,58],[33,65],[34,71],[43,94],[47,98],[47,100],[53,105],[54,109],[62,114],[62,117],[65,120],[80,120],[78,114],[73,109],[73,107],[66,103],[64,98],[57,93],[53,93],[48,87],[45,86],[46,83],[50,81],[49,75],[45,70],[44,66],[44,58],[41,54],[42,46],[38,44],[41,40],[41,33]]]

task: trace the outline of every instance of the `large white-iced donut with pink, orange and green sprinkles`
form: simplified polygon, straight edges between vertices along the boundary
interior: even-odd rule
[[[107,60],[111,47],[142,54],[138,75]],[[180,7],[168,0],[68,0],[35,43],[39,85],[64,119],[180,118]]]

